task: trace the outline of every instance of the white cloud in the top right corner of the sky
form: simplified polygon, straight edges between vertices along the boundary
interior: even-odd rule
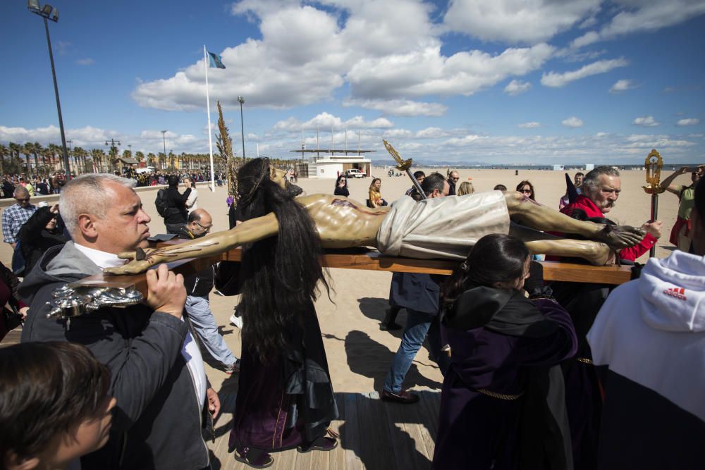
[[[705,13],[702,0],[616,0],[615,3],[620,8],[609,23],[599,31],[577,37],[571,47],[584,47],[634,32],[660,30]]]

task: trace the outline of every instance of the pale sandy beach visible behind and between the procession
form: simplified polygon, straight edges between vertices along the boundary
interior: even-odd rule
[[[430,173],[432,170],[424,169],[424,171]],[[477,191],[491,190],[497,183],[513,189],[521,180],[529,180],[536,188],[538,202],[555,209],[558,208],[558,199],[565,192],[564,173],[561,171],[519,171],[519,175],[515,175],[513,170],[470,171],[466,169],[460,170],[459,173],[461,182],[472,178]],[[381,193],[388,202],[401,197],[411,185],[406,176],[391,178],[386,176],[384,168],[374,168],[373,174],[381,178]],[[573,173],[570,174],[572,176]],[[665,173],[662,177],[665,178],[668,174]],[[369,182],[369,178],[350,180],[350,197],[364,202],[364,199],[367,199]],[[676,183],[688,184],[689,175],[682,175]],[[332,194],[334,181],[300,178],[298,185],[307,194],[318,192]],[[642,185],[644,185],[644,172],[622,173],[623,192],[615,209],[609,214],[610,218],[618,223],[630,225],[641,225],[649,219],[651,197],[644,193],[641,189]],[[198,192],[198,206],[212,214],[214,230],[226,230],[228,228],[226,188],[216,187],[216,191],[211,192],[205,185],[199,185]],[[139,193],[147,213],[152,217],[152,222],[149,224],[152,235],[165,232],[164,223],[154,207],[156,193],[157,190],[154,189]],[[673,249],[668,244],[668,233],[675,221],[677,210],[677,197],[673,194],[661,195],[658,214],[659,219],[663,221],[664,230],[656,250],[658,257],[668,256]],[[645,262],[645,258],[644,256],[638,261]],[[5,243],[0,247],[0,261],[6,266],[11,262],[11,249]],[[316,307],[328,354],[333,388],[336,392],[380,390],[401,335],[400,330],[394,332],[379,330],[379,321],[387,307],[391,273],[331,269],[329,278],[333,287],[331,299],[322,294]],[[223,336],[233,353],[239,357],[240,331],[228,321],[238,298],[220,297],[212,293],[210,299]],[[404,311],[400,314],[398,322],[402,325],[405,323]],[[204,353],[204,357],[209,360],[207,353]],[[209,364],[207,373],[216,390],[234,391],[236,389],[237,377],[226,376],[217,368],[217,364]],[[441,373],[429,359],[427,350],[422,350],[407,374],[405,387],[438,389],[441,380]]]

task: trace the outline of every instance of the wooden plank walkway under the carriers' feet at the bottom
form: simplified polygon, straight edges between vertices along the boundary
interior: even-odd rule
[[[417,391],[417,404],[379,400],[377,392],[336,393],[340,417],[331,429],[341,435],[331,452],[300,454],[295,449],[272,454],[277,470],[368,469],[427,470],[431,467],[438,428],[441,393]],[[216,441],[208,441],[214,470],[247,470],[228,454],[235,395],[221,394],[223,413],[216,423]]]

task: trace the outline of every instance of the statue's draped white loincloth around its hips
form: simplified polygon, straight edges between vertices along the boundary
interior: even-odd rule
[[[509,211],[501,191],[391,205],[377,232],[377,249],[417,259],[465,259],[480,238],[509,233]]]

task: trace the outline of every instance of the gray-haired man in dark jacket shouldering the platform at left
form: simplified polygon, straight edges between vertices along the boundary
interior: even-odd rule
[[[20,286],[31,305],[22,341],[81,343],[111,371],[118,405],[110,439],[81,458],[83,469],[200,470],[209,465],[204,405],[216,416],[220,402],[181,318],[182,276],[160,266],[147,273],[145,304],[104,307],[70,324],[47,319],[54,289],[119,266],[118,253],[146,246],[150,219],[133,186],[133,180],[89,174],[63,187],[61,214],[73,242],[50,248]]]

